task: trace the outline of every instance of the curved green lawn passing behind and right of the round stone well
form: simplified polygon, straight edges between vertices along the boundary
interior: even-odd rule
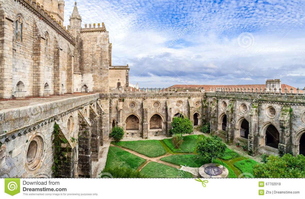
[[[204,163],[204,158],[199,155],[171,155],[164,158],[161,158],[161,160],[165,162],[170,162],[176,165],[186,165],[188,167],[200,167]],[[206,160],[206,163],[208,163],[208,160]],[[221,164],[221,161],[219,159],[213,160],[213,163]],[[224,163],[224,166],[229,171],[229,178],[236,178],[236,174],[234,173],[233,169],[231,169],[226,163]]]

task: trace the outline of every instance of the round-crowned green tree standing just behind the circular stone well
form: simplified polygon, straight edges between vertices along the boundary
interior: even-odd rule
[[[222,142],[220,137],[212,135],[209,137],[200,137],[197,141],[196,148],[199,155],[206,157],[211,162],[213,156],[221,157],[227,146]]]

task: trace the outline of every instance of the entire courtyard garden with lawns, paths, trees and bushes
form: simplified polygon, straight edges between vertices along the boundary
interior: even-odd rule
[[[123,128],[114,128],[111,133],[114,141],[102,172],[124,178],[192,178],[200,177],[199,167],[213,162],[226,167],[229,178],[305,176],[303,155],[267,157],[263,154],[263,163],[259,163],[246,155],[246,146],[243,152],[236,152],[220,137],[208,134],[209,124],[202,127],[204,133],[199,135],[190,135],[193,128],[187,118],[174,118],[172,127],[172,138],[139,141],[120,141]]]

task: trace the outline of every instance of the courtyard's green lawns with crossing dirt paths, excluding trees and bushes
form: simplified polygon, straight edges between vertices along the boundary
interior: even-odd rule
[[[199,168],[204,163],[209,163],[208,159],[205,160],[196,152],[196,143],[203,136],[205,135],[183,136],[183,143],[178,149],[174,147],[172,138],[113,141],[109,147],[105,169],[128,168],[150,178],[196,177],[190,172],[179,169],[182,166]],[[229,171],[229,178],[245,177],[242,173],[254,175],[253,167],[259,164],[229,148],[225,149],[220,159],[213,159],[213,163],[224,165]]]

